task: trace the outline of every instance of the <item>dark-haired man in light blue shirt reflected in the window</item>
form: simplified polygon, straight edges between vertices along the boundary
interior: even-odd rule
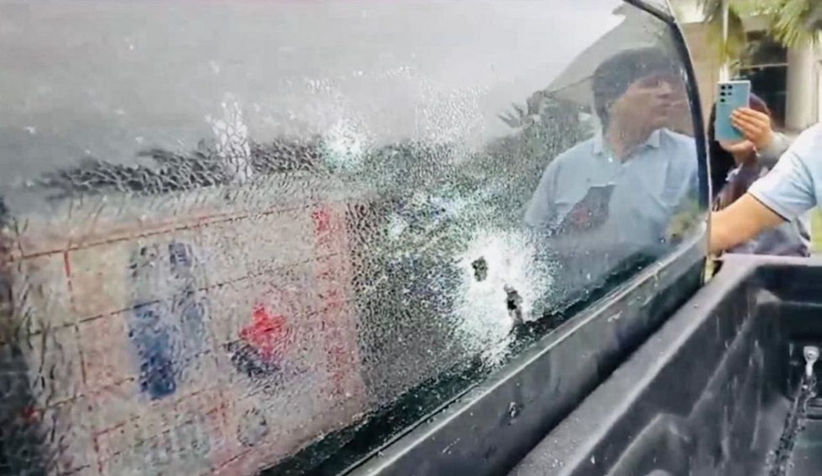
[[[547,166],[525,221],[570,238],[576,251],[617,260],[663,242],[672,216],[698,189],[695,141],[671,130],[691,117],[682,78],[659,49],[600,64],[592,88],[601,132]]]

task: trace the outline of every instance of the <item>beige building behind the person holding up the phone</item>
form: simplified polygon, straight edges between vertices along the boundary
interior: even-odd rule
[[[710,43],[699,0],[672,3],[690,46],[702,105],[708,111],[721,68],[717,47]],[[788,130],[799,131],[818,122],[822,117],[822,48],[785,49],[765,34],[768,25],[764,17],[749,16],[742,21],[748,49],[732,75],[750,79],[754,92],[768,102]]]

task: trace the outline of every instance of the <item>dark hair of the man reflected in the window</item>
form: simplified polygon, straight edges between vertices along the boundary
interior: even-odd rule
[[[631,84],[654,74],[680,76],[670,54],[654,47],[629,49],[600,64],[593,72],[593,106],[603,124],[611,105]]]

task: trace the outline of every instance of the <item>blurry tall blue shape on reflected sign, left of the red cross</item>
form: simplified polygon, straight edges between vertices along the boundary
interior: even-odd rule
[[[194,264],[191,247],[179,242],[141,247],[132,255],[128,336],[140,362],[140,390],[152,400],[177,391],[182,370],[203,349],[205,306]],[[155,300],[169,290],[168,299]]]

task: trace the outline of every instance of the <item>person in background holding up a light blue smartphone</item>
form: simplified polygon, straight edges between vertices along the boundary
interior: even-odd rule
[[[750,107],[737,109],[728,120],[745,137],[742,141],[718,139],[714,105],[708,127],[713,210],[723,210],[737,201],[757,179],[764,177],[787,150],[789,140],[774,132],[767,104],[756,95],[748,99]],[[776,229],[760,233],[728,252],[809,256],[810,220],[803,215]]]

